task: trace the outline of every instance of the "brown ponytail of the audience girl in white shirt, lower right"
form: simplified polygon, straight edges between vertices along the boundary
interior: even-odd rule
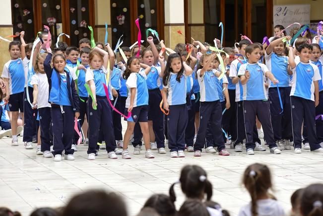
[[[242,181],[251,196],[251,213],[257,216],[258,197],[268,194],[268,189],[272,187],[269,168],[260,163],[251,164],[245,170]]]

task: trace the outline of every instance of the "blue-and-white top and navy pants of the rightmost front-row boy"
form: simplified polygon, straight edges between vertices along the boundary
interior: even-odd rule
[[[293,82],[291,89],[292,126],[294,148],[302,147],[302,123],[306,132],[311,150],[320,148],[315,128],[315,98],[314,81],[320,80],[320,70],[312,63],[296,63],[292,69]],[[320,108],[319,108],[320,109]],[[321,113],[322,114],[322,113]],[[322,131],[320,132],[322,134]]]

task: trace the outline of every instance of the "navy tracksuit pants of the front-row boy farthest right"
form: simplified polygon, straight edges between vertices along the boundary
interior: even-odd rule
[[[306,126],[306,132],[311,150],[321,147],[318,143],[315,128],[315,103],[302,97],[291,96],[292,125],[294,148],[302,147],[302,123]],[[321,132],[322,134],[322,132]]]

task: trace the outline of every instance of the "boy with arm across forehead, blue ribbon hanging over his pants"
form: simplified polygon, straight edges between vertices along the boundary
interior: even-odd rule
[[[283,40],[289,41],[290,39],[290,36],[274,37],[265,51],[266,66],[279,80],[279,83],[276,85],[269,82],[268,90],[271,124],[274,139],[279,150],[291,149],[289,143],[292,137],[289,76],[292,72],[288,69],[288,57],[282,56],[285,49]],[[281,97],[282,108],[279,97]],[[284,133],[282,133],[283,131]]]

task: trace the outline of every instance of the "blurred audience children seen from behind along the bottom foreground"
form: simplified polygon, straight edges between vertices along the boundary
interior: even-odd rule
[[[269,168],[260,163],[249,165],[242,183],[251,201],[240,208],[238,216],[322,216],[323,184],[312,184],[296,190],[291,196],[291,212],[286,214],[270,193],[273,188]],[[177,211],[174,187],[180,185],[185,201]],[[206,171],[198,165],[182,168],[179,181],[172,184],[169,195],[153,194],[136,216],[230,216],[219,203],[212,201],[213,186]],[[214,197],[214,196],[213,196]],[[89,203],[88,201],[92,202]],[[40,208],[30,216],[127,216],[123,199],[115,193],[91,190],[75,195],[64,207]],[[0,216],[20,216],[7,208],[0,208]]]

